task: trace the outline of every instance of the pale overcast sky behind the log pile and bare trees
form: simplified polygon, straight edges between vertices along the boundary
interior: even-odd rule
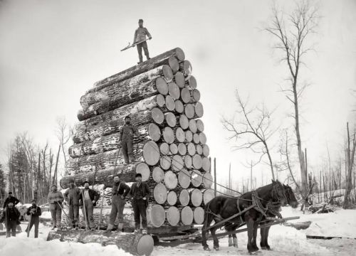
[[[279,87],[286,68],[273,54],[273,38],[261,28],[271,16],[272,1],[0,1],[0,149],[28,131],[38,144],[56,147],[56,117],[78,122],[80,96],[103,79],[135,65],[132,41],[143,18],[152,34],[155,56],[180,47],[191,61],[204,105],[203,121],[219,181],[231,162],[234,183],[247,177],[241,165],[251,152],[233,151],[221,116],[236,110],[236,88],[251,105],[278,107],[276,125],[290,122],[292,111]],[[293,1],[280,1],[286,9]],[[356,1],[319,2],[319,34],[313,38],[308,68],[301,71],[312,86],[302,102],[301,134],[311,170],[318,170],[328,144],[332,158],[342,154],[345,123],[352,121],[356,88]],[[275,141],[278,144],[278,136]],[[277,150],[277,149],[276,149]],[[277,156],[276,156],[277,157]],[[278,158],[278,157],[277,157]],[[276,159],[279,160],[279,159]],[[256,168],[269,176],[268,166]]]

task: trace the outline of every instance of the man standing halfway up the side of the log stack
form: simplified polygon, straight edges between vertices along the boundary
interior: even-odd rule
[[[140,139],[145,139],[145,137],[140,136],[137,128],[131,125],[131,117],[125,117],[125,124],[120,131],[120,142],[122,154],[124,155],[125,164],[130,164],[133,161],[132,154],[132,144],[133,144],[133,134]]]

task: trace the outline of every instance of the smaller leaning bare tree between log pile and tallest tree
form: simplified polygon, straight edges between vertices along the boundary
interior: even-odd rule
[[[274,180],[271,147],[268,145],[268,140],[277,131],[277,129],[272,129],[271,126],[271,115],[273,112],[269,112],[265,105],[250,109],[248,107],[248,100],[246,102],[242,100],[238,91],[236,91],[236,100],[239,104],[236,113],[241,116],[241,119],[236,121],[235,117],[232,119],[223,117],[221,121],[224,128],[232,134],[229,139],[235,139],[237,143],[236,146],[233,146],[233,149],[250,149],[253,153],[258,154],[258,163],[261,162],[263,156],[267,156],[268,165],[271,167],[271,174]]]

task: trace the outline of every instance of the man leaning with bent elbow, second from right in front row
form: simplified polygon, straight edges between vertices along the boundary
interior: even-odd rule
[[[124,225],[124,207],[125,207],[125,197],[130,192],[130,187],[126,185],[125,181],[120,181],[118,175],[114,176],[114,183],[112,184],[112,200],[111,200],[111,212],[108,229],[105,233],[109,233],[112,228],[114,228],[115,219],[119,220],[119,225],[117,227],[118,232],[122,231]]]

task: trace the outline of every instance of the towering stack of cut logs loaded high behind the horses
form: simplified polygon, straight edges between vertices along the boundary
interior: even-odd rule
[[[114,174],[131,182],[140,173],[152,192],[150,227],[203,223],[214,191],[199,100],[192,65],[180,48],[96,82],[80,98],[61,187],[68,188],[70,178],[77,185],[111,186]],[[125,165],[119,137],[127,115],[145,140],[135,137],[134,161]]]

